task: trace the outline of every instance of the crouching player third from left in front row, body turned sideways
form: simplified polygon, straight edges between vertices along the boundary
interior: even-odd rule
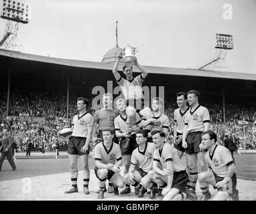
[[[162,130],[154,130],[151,134],[155,151],[153,170],[147,173],[147,177],[157,183],[160,188],[164,188],[162,190],[164,201],[177,200],[179,193],[186,196],[183,192],[188,182],[188,175],[178,155],[178,150],[165,143],[165,134]]]

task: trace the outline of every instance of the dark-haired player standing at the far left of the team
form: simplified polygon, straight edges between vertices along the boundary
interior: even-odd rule
[[[88,190],[88,184],[90,180],[90,170],[88,167],[88,154],[89,154],[89,143],[92,138],[92,126],[93,126],[93,117],[90,113],[87,112],[86,108],[88,107],[88,100],[86,98],[77,98],[77,110],[76,114],[72,120],[72,134],[69,138],[68,143],[68,158],[70,160],[71,167],[71,183],[72,188],[65,193],[77,193],[77,178],[78,178],[78,169],[77,161],[78,155],[82,163],[83,171],[83,184],[84,184],[84,194],[90,194]]]

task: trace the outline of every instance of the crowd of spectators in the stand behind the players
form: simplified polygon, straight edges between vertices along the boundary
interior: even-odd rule
[[[70,97],[69,119],[66,119],[66,96],[52,96],[47,92],[30,92],[21,96],[11,94],[9,101],[9,116],[5,115],[6,94],[0,94],[0,131],[7,128],[17,143],[17,152],[25,151],[27,140],[32,142],[32,150],[51,151],[56,148],[66,150],[67,139],[58,136],[60,128],[70,126],[71,119],[76,114],[76,97]],[[216,131],[219,143],[225,133],[239,138],[240,147],[256,148],[256,105],[255,103],[226,104],[226,123],[223,122],[222,106],[219,104],[204,104],[210,112],[211,126]],[[174,133],[174,110],[178,108],[176,101],[166,102],[165,114],[170,118],[170,138]],[[91,112],[93,114],[93,110]],[[239,120],[248,122],[245,126]],[[246,143],[244,143],[246,142]]]

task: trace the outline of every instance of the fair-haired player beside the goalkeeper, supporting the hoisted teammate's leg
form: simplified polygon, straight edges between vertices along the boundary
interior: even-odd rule
[[[128,173],[131,164],[131,153],[137,148],[136,131],[139,130],[139,124],[141,117],[136,112],[130,125],[127,124],[127,114],[125,112],[126,102],[124,99],[118,99],[116,101],[117,110],[119,110],[119,116],[115,118],[115,134],[120,139],[120,148],[123,156],[123,166],[125,167],[124,174]],[[121,195],[131,193],[129,184],[125,184],[125,189],[121,191]]]

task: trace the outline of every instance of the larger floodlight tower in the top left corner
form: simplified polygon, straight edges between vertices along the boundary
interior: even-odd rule
[[[29,23],[31,7],[27,3],[13,0],[3,0],[1,18],[6,19],[6,27],[0,41],[1,49],[13,50],[17,46],[17,31],[22,23]]]

